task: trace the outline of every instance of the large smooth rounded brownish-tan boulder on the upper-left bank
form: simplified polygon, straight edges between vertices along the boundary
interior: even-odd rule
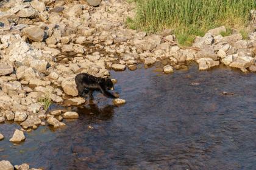
[[[43,41],[44,30],[37,26],[27,27],[23,29],[24,35],[33,41]]]

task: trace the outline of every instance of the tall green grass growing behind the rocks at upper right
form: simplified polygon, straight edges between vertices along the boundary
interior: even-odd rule
[[[127,18],[131,29],[149,33],[174,29],[182,45],[191,44],[193,37],[220,25],[244,27],[249,21],[249,11],[256,9],[255,0],[137,0],[136,3],[135,18]],[[230,30],[222,35],[229,35]]]

